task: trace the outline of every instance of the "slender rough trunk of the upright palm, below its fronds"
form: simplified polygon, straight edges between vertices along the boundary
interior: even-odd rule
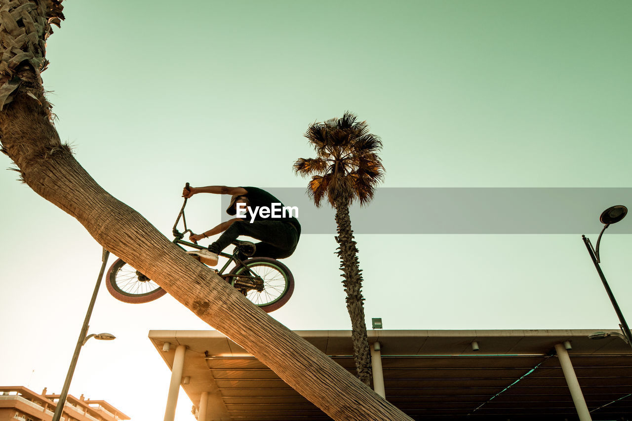
[[[364,316],[364,298],[362,296],[362,271],[358,262],[358,248],[353,240],[349,201],[336,199],[336,241],[340,257],[341,275],[344,279],[344,291],[347,293],[347,311],[351,318],[351,339],[355,353],[358,379],[367,386],[371,384],[371,353],[368,347],[367,324]]]

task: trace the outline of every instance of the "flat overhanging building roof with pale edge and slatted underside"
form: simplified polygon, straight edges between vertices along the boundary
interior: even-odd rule
[[[632,413],[632,348],[593,331],[371,331],[380,341],[386,398],[418,420],[577,418],[552,348],[571,341],[571,362],[593,420]],[[355,372],[348,331],[297,332]],[[198,406],[215,397],[211,420],[329,420],[323,412],[246,351],[214,331],[152,331],[169,367],[174,348],[187,345],[184,385]],[[471,350],[471,341],[480,351]]]

